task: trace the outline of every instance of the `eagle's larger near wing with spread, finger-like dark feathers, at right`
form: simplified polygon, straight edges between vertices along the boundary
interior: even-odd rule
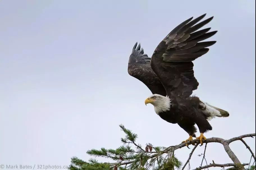
[[[159,43],[151,59],[152,69],[161,80],[167,95],[177,100],[188,98],[197,89],[199,83],[194,77],[192,61],[208,52],[209,49],[205,47],[216,43],[200,42],[217,32],[207,33],[210,28],[197,31],[213,18],[196,24],[205,15],[194,20],[192,17],[173,29]]]

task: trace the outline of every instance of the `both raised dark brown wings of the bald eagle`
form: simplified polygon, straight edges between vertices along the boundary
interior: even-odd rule
[[[194,77],[192,61],[207,53],[206,47],[216,43],[200,42],[217,32],[208,32],[211,28],[198,31],[213,19],[199,22],[205,15],[194,20],[191,17],[175,27],[159,43],[152,59],[136,43],[129,58],[128,73],[143,82],[153,94],[165,96],[167,91],[176,101],[188,98],[199,84]]]

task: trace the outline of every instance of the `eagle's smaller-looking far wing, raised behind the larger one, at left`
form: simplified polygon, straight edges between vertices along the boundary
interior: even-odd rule
[[[129,75],[143,82],[153,94],[166,96],[163,84],[150,66],[151,58],[144,54],[143,48],[140,49],[140,44],[137,48],[136,46],[137,43],[132,48],[132,54],[129,58]]]

